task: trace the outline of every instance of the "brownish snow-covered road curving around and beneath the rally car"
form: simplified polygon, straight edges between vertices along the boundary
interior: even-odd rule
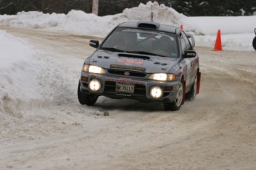
[[[44,52],[38,59],[65,73],[43,77],[54,75],[63,84],[44,82],[56,93],[68,91],[53,95],[56,102],[10,106],[4,99],[10,115],[0,120],[0,169],[255,169],[255,51],[197,47],[200,94],[178,112],[165,112],[160,103],[108,98],[88,107],[76,100],[76,86],[93,52],[91,37],[0,29]]]

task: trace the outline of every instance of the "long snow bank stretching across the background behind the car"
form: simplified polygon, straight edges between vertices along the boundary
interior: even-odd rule
[[[79,10],[65,14],[44,14],[39,12],[21,12],[16,16],[0,16],[0,25],[11,27],[47,28],[66,30],[86,35],[106,35],[116,24],[124,21],[151,19],[153,8],[154,21],[161,24],[172,24],[196,35],[216,35],[216,30],[223,34],[253,33],[256,27],[256,16],[237,17],[186,17],[164,4],[148,1],[138,7],[128,8],[114,16],[95,16]]]

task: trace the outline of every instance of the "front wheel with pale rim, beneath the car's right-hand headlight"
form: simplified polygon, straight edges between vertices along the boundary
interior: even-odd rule
[[[176,111],[180,109],[180,106],[183,103],[183,98],[185,93],[183,85],[184,85],[184,81],[183,79],[181,79],[175,101],[170,103],[163,103],[163,107],[165,108],[165,110]]]

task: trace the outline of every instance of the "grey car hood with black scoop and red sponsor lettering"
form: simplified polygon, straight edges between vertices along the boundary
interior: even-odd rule
[[[152,73],[169,72],[178,60],[179,58],[96,50],[91,56],[89,64],[105,69],[128,69]]]

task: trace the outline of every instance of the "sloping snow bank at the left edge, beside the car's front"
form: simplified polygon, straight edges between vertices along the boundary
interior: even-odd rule
[[[0,39],[0,113],[21,118],[22,108],[76,100],[65,68],[21,38],[0,30]]]

